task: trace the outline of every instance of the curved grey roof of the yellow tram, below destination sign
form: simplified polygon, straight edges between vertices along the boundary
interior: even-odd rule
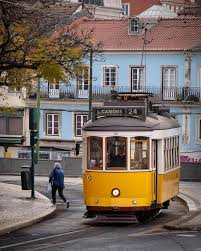
[[[88,121],[85,131],[154,131],[180,127],[172,117],[158,114],[147,116],[144,120],[138,117],[100,117],[94,121]]]

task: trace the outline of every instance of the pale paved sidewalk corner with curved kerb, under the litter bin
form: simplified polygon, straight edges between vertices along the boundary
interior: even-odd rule
[[[36,199],[30,196],[31,191],[21,186],[0,182],[0,235],[39,222],[56,210],[44,195],[35,192]]]

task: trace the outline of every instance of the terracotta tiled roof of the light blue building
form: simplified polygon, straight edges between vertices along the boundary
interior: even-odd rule
[[[94,42],[102,42],[102,50],[141,51],[145,33],[128,34],[128,19],[85,20],[80,29],[93,29]],[[201,18],[161,19],[147,30],[146,50],[177,51],[197,48],[201,43]],[[199,49],[199,48],[197,48]]]

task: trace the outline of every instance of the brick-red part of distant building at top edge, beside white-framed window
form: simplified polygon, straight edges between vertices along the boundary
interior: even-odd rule
[[[160,4],[160,0],[122,0],[122,3],[130,3],[130,16],[137,16],[155,4]]]

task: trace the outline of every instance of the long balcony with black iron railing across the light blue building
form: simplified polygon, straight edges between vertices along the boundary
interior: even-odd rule
[[[92,97],[96,100],[105,100],[110,98],[111,92],[130,92],[130,87],[118,86],[118,87],[100,87],[93,86]],[[152,102],[186,102],[186,103],[201,103],[201,88],[199,87],[175,87],[175,88],[150,88],[146,87],[141,90],[136,90],[137,92],[148,92],[153,94]],[[132,91],[135,93],[135,91]],[[30,97],[31,98],[31,97]],[[32,96],[35,98],[35,96]],[[77,88],[77,86],[69,85],[51,92],[46,87],[41,88],[41,99],[63,99],[63,100],[79,100],[88,99],[89,90],[87,88]]]

